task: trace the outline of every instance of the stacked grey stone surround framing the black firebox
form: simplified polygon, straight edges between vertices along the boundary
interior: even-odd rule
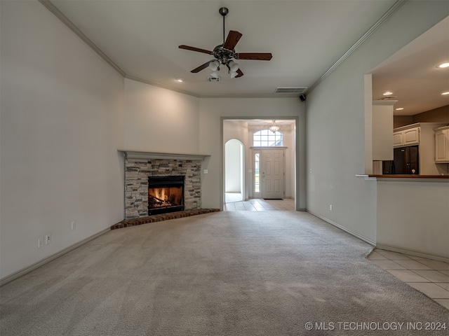
[[[202,158],[188,159],[130,158],[126,155],[125,220],[148,216],[148,176],[185,176],[185,210],[201,209]]]

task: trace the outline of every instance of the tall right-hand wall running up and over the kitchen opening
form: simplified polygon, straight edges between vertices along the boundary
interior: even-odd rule
[[[356,178],[365,172],[363,76],[448,11],[447,1],[408,1],[307,95],[311,213],[376,241],[376,184]]]

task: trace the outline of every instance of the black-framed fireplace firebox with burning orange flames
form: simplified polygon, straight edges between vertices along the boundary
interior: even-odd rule
[[[184,210],[184,176],[148,177],[148,216]]]

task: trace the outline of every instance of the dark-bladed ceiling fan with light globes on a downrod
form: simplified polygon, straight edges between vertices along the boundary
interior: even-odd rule
[[[180,45],[180,49],[192,50],[197,52],[203,52],[208,55],[213,55],[215,59],[211,59],[210,61],[201,64],[197,68],[193,69],[190,72],[197,73],[203,69],[206,69],[208,66],[213,71],[210,76],[217,78],[218,73],[216,71],[220,70],[220,65],[227,66],[229,73],[231,74],[231,78],[239,78],[243,76],[243,72],[239,68],[239,64],[234,62],[232,59],[256,59],[261,61],[269,61],[272,59],[273,55],[270,52],[239,52],[237,53],[234,49],[237,42],[239,42],[242,34],[236,30],[230,30],[227,35],[225,41],[225,16],[229,13],[229,10],[226,7],[220,8],[218,12],[223,17],[223,44],[217,45],[213,51],[191,47],[189,45]]]

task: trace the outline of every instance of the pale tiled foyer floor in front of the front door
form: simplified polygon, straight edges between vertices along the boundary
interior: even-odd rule
[[[223,205],[223,211],[295,211],[295,200],[263,200],[253,198],[248,201],[230,202]]]

